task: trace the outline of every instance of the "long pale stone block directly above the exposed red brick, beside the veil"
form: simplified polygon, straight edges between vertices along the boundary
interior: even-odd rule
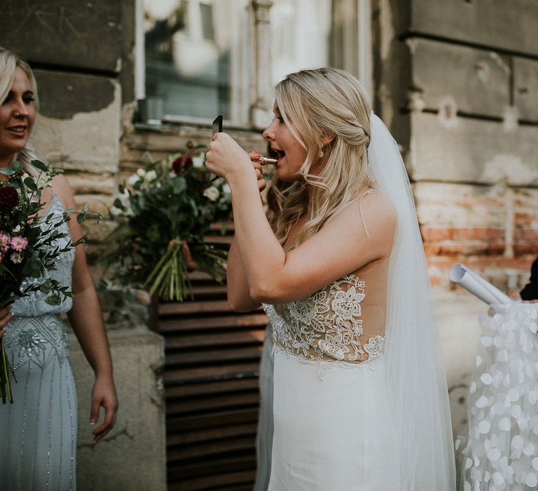
[[[533,185],[538,179],[536,128],[413,112],[408,159],[416,181]]]

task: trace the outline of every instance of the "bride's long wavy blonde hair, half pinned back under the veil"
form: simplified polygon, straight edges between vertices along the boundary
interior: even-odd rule
[[[306,150],[299,171],[304,182],[276,185],[273,190],[275,234],[281,244],[289,238],[291,227],[305,217],[293,248],[319,231],[361,190],[375,187],[366,153],[371,103],[354,76],[335,68],[289,74],[276,87],[276,102],[284,122]],[[322,141],[331,137],[324,146]],[[310,173],[321,159],[320,152],[327,156],[326,164],[319,173]]]

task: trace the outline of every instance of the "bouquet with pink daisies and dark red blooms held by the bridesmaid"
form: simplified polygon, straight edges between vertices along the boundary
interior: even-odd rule
[[[67,286],[48,277],[47,271],[55,269],[56,258],[83,241],[65,247],[57,245],[57,239],[64,238],[58,230],[62,223],[69,221],[74,210],[65,210],[63,215],[52,213],[39,217],[43,208],[41,191],[50,187],[50,181],[61,170],[49,170],[48,165],[34,160],[32,165],[39,170],[37,177],[30,177],[22,170],[22,163],[15,161],[0,173],[8,176],[0,180],[0,307],[13,303],[18,297],[25,297],[32,291],[41,291],[47,296],[46,302],[57,305],[71,296]],[[78,213],[79,223],[84,222],[88,206]],[[26,278],[42,278],[43,281],[24,283]],[[0,338],[0,397],[13,403],[10,372],[15,378]]]

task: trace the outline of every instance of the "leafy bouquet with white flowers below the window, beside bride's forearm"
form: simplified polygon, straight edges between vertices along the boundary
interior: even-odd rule
[[[111,209],[118,227],[106,256],[114,281],[181,302],[191,291],[189,271],[225,278],[226,251],[204,238],[212,223],[230,218],[230,194],[223,179],[209,180],[202,149],[152,162],[118,187]]]

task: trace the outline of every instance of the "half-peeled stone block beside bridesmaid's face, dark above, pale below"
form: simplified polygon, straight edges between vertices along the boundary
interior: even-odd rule
[[[118,83],[98,76],[62,72],[47,72],[46,78],[50,84],[56,81],[58,91],[49,85],[50,90],[54,90],[54,100],[47,102],[47,110],[56,116],[40,114],[34,128],[33,141],[43,159],[64,169],[115,173],[120,144],[121,97]],[[72,113],[67,109],[50,109],[50,105],[56,99],[61,99],[62,94],[68,97],[67,94],[72,91],[74,95],[69,95],[69,100],[77,95],[100,99],[99,91],[105,87],[108,91],[106,106],[102,106],[102,103],[93,106],[81,103]],[[113,94],[111,98],[110,90]]]

